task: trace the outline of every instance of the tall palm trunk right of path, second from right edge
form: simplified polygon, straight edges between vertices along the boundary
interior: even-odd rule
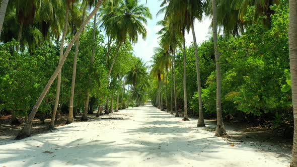
[[[211,0],[212,5],[212,13],[213,13],[213,23],[212,23],[212,30],[213,30],[213,45],[214,45],[214,55],[215,55],[215,67],[216,67],[216,129],[215,129],[215,135],[216,136],[224,136],[227,135],[224,123],[222,120],[222,114],[221,114],[221,75],[220,75],[220,64],[219,64],[219,53],[217,51],[217,25],[216,25],[216,6],[215,6],[215,0]]]

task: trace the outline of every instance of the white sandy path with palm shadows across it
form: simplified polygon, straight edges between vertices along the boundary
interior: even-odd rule
[[[154,107],[121,110],[23,140],[0,141],[0,166],[289,166],[290,152],[215,137]],[[234,143],[235,146],[231,146]]]

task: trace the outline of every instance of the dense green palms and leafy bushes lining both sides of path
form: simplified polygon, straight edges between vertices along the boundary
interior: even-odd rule
[[[133,55],[152,18],[137,0],[2,0],[0,113],[11,113],[12,124],[25,118],[16,139],[30,136],[37,111],[51,116],[52,129],[57,112],[69,124],[78,112],[86,121],[94,110],[99,117],[148,99],[184,121],[198,116],[199,127],[216,117],[216,136],[228,137],[224,118],[297,126],[295,0],[163,0],[161,7],[149,73]],[[204,16],[212,37],[198,46],[194,23]]]

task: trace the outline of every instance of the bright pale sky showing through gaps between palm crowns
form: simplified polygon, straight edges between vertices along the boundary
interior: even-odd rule
[[[140,0],[140,3],[145,4],[145,0]],[[159,36],[156,33],[160,31],[162,27],[157,25],[157,22],[164,18],[164,15],[157,17],[157,13],[161,9],[160,4],[160,0],[147,0],[146,6],[150,8],[153,19],[147,20],[146,40],[143,40],[140,36],[140,38],[138,38],[138,42],[134,45],[135,56],[142,58],[144,62],[147,62],[147,65],[151,64],[149,61],[152,60],[152,56],[154,55],[154,48],[159,46]],[[209,33],[210,22],[211,21],[209,18],[204,18],[202,22],[199,22],[198,20],[195,21],[194,28],[198,45],[211,36]],[[193,35],[191,31],[185,36],[185,39],[186,46],[189,46],[193,41]]]

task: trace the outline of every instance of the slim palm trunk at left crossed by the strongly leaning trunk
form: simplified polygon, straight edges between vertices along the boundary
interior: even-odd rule
[[[60,45],[59,62],[61,61],[61,59],[63,57],[64,41],[65,41],[65,37],[66,37],[66,33],[67,33],[67,26],[68,26],[68,14],[69,14],[69,4],[67,3],[67,5],[66,5],[66,15],[65,15],[65,20],[64,20],[64,29],[63,29],[61,45]],[[61,70],[59,71],[59,74],[58,74],[56,99],[55,99],[55,105],[54,105],[54,108],[53,108],[53,111],[52,111],[52,114],[51,114],[51,121],[50,121],[50,124],[49,124],[49,129],[54,128],[56,113],[57,113],[57,109],[58,109],[58,105],[59,105],[60,88],[61,88]]]

